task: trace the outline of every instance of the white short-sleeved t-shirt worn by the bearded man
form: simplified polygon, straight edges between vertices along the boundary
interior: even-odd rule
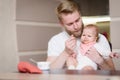
[[[48,56],[59,56],[63,52],[63,50],[65,48],[66,40],[68,40],[69,38],[70,38],[70,36],[65,31],[53,36],[50,39],[50,41],[48,42],[48,52],[47,52]],[[77,39],[76,49],[77,49],[78,54],[79,54],[79,46],[80,46],[80,39]],[[110,46],[109,46],[109,43],[108,43],[107,39],[103,35],[99,34],[99,40],[94,45],[94,47],[97,49],[97,51],[101,55],[109,56],[109,54],[110,54]],[[87,60],[90,60],[90,59],[87,59]]]

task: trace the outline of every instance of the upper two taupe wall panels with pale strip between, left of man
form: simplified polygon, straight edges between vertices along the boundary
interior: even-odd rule
[[[47,50],[49,39],[61,32],[55,14],[57,5],[55,0],[17,0],[16,27],[20,52]]]

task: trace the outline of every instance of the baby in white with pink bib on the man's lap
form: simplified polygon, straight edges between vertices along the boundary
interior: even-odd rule
[[[78,54],[76,57],[70,56],[67,61],[68,69],[78,70],[97,70],[97,64],[89,59],[86,52],[91,48],[95,47],[103,58],[108,58],[111,50],[99,43],[99,30],[96,25],[89,24],[84,27],[81,35],[81,44],[78,48]]]

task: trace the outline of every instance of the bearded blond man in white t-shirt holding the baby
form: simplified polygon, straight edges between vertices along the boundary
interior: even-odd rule
[[[51,69],[61,69],[70,55],[77,53],[83,22],[78,5],[73,0],[65,0],[56,9],[60,24],[64,31],[52,37],[48,43],[48,58]],[[99,36],[99,43],[110,49],[106,38]],[[114,70],[112,59],[103,59],[94,47],[87,51],[86,56],[94,61],[100,69]]]

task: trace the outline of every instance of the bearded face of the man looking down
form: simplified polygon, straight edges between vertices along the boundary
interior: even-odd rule
[[[79,12],[75,11],[71,14],[62,14],[61,17],[61,24],[64,26],[68,34],[80,37],[83,29],[83,23]]]

